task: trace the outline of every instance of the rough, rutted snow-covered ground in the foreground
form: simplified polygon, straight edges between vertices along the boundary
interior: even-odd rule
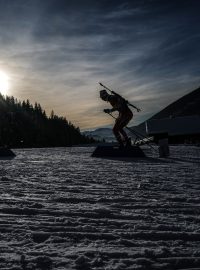
[[[93,150],[0,160],[0,269],[200,269],[200,147],[135,160]]]

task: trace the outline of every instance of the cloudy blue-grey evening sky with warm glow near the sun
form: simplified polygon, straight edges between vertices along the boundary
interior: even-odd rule
[[[0,0],[7,95],[81,130],[112,125],[98,82],[147,120],[200,86],[198,0]]]

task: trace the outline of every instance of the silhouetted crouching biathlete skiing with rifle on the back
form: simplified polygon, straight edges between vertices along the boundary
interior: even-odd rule
[[[104,109],[105,113],[112,113],[118,111],[119,115],[113,127],[113,133],[120,146],[131,146],[131,139],[124,131],[124,127],[130,122],[133,117],[132,111],[129,109],[128,104],[124,98],[119,95],[109,95],[106,90],[100,91],[100,98],[111,104],[112,109]],[[133,105],[132,105],[133,106]],[[133,106],[138,112],[140,109]]]

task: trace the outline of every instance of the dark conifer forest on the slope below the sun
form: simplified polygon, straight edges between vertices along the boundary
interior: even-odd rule
[[[39,103],[0,94],[0,146],[60,147],[93,143],[65,117],[47,116]]]

